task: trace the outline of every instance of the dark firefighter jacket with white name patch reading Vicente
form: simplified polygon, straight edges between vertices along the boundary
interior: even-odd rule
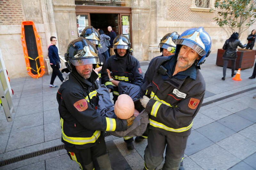
[[[175,55],[168,60],[157,58],[148,68],[146,82],[141,88],[150,98],[146,106],[149,128],[188,136],[204,99],[205,82],[195,65],[172,76],[176,60]],[[167,69],[171,78],[157,71],[160,65]]]

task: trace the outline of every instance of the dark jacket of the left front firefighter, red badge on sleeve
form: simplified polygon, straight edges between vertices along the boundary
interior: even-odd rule
[[[57,92],[57,101],[62,142],[69,147],[75,146],[77,149],[82,149],[96,144],[100,131],[126,130],[127,122],[102,117],[96,112],[99,98],[95,90],[95,80],[98,75],[94,71],[89,79],[77,75],[74,76],[71,72],[63,81]]]

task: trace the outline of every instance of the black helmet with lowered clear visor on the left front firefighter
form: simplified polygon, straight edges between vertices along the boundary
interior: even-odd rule
[[[73,66],[86,64],[99,64],[97,49],[88,40],[78,37],[69,43],[67,53],[65,54],[66,66],[72,72]]]

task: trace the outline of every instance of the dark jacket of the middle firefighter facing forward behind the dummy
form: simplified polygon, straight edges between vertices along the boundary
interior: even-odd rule
[[[112,55],[108,58],[107,69],[112,71],[111,76],[117,81],[123,81],[138,86],[142,85],[143,75],[140,62],[130,54],[124,57]],[[114,87],[114,101],[117,99],[118,95],[118,87]]]

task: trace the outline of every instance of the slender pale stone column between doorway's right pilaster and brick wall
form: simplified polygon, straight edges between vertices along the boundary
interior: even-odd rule
[[[159,55],[159,42],[157,40],[158,24],[157,24],[157,0],[150,0],[150,30],[148,45],[148,60]]]

